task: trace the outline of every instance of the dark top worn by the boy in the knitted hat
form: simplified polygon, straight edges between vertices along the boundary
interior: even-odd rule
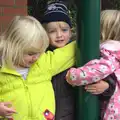
[[[51,51],[54,49],[48,48]],[[66,73],[67,70],[52,78],[56,101],[55,120],[75,120],[74,88],[66,82]]]

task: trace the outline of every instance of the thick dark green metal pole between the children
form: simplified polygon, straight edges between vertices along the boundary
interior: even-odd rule
[[[99,56],[100,0],[76,0],[77,5],[77,66]],[[99,102],[84,87],[76,88],[76,119],[99,120]]]

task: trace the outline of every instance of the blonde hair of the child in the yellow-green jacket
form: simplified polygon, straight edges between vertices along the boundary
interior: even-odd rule
[[[19,65],[25,53],[43,53],[48,45],[47,33],[39,21],[32,16],[15,16],[0,37],[1,66]]]

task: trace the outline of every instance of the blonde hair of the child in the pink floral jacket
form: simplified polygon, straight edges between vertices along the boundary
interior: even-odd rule
[[[104,10],[101,12],[101,42],[120,40],[120,11]]]

